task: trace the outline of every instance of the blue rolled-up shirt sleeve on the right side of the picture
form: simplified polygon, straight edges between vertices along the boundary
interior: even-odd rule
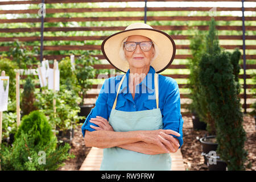
[[[166,97],[163,107],[163,129],[174,130],[180,134],[180,137],[172,135],[177,138],[180,143],[180,147],[183,145],[183,119],[180,113],[180,92],[177,82],[174,81],[172,90]],[[179,147],[179,148],[180,148]]]

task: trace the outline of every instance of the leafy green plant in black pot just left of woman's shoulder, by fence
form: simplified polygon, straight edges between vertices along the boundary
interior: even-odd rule
[[[92,81],[96,75],[95,69],[92,67],[93,64],[97,63],[98,59],[90,55],[89,52],[85,52],[83,55],[75,59],[75,75],[77,78],[77,86],[79,87],[79,96],[82,98],[80,102],[80,116],[85,116],[90,113],[90,110],[94,105],[85,104],[86,92],[92,88]],[[84,120],[80,121],[84,122]]]

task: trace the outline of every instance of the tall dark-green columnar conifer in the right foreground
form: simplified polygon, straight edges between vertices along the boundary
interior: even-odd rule
[[[209,41],[211,39],[207,41],[207,51],[199,63],[199,80],[204,92],[208,93],[207,107],[216,125],[217,154],[227,163],[229,170],[243,170],[246,159],[243,148],[245,131],[238,96],[240,86],[235,76],[238,69],[233,66],[233,63],[238,63],[241,54],[238,49],[233,53],[221,49],[217,35],[210,33],[216,38],[212,42]],[[232,61],[234,57],[238,61]]]

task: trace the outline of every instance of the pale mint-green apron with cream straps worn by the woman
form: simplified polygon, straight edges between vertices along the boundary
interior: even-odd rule
[[[126,76],[126,75],[125,75]],[[119,83],[117,96],[125,78]],[[142,111],[115,110],[117,97],[109,117],[114,131],[126,132],[137,130],[163,129],[162,114],[158,108],[158,74],[155,73],[156,109]],[[169,171],[171,170],[170,154],[147,155],[119,147],[104,148],[101,171]]]

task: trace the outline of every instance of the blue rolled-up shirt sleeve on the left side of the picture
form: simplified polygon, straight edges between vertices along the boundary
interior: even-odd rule
[[[85,130],[88,131],[95,131],[90,127],[90,125],[97,126],[94,123],[89,122],[90,118],[96,118],[96,116],[101,116],[102,118],[108,119],[108,107],[107,107],[107,100],[108,100],[108,79],[105,80],[104,84],[102,85],[102,88],[100,90],[100,94],[98,95],[95,107],[90,111],[88,116],[85,119],[84,124],[82,125],[82,136],[85,135]]]

